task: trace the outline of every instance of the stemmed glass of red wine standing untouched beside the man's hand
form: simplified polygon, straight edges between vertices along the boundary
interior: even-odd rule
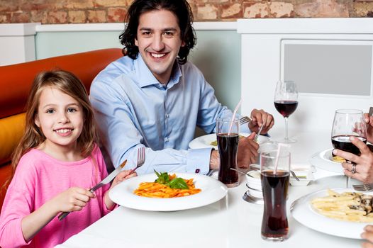
[[[288,120],[289,115],[294,113],[298,106],[298,90],[294,81],[278,81],[276,91],[274,92],[274,107],[285,119],[285,137],[278,140],[281,143],[294,143],[296,140],[288,137]]]

